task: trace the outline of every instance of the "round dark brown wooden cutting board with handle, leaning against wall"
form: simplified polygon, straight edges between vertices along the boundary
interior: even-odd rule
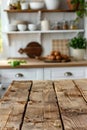
[[[35,58],[36,56],[41,56],[42,46],[38,42],[33,41],[28,43],[24,49],[20,48],[18,52],[20,54],[26,53],[30,58]]]

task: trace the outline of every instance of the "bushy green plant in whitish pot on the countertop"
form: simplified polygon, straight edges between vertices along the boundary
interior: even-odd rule
[[[77,60],[84,59],[87,40],[81,35],[72,38],[69,41],[70,55]]]

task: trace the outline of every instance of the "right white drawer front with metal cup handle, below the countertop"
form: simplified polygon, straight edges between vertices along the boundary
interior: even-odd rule
[[[84,67],[44,68],[44,80],[85,78]]]

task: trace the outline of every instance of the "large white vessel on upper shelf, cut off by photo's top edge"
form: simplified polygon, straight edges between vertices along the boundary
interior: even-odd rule
[[[59,0],[45,0],[45,4],[48,10],[58,9]]]

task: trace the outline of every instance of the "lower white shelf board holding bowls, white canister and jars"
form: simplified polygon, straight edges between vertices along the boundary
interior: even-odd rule
[[[32,34],[32,33],[79,33],[84,32],[84,29],[77,30],[48,30],[48,31],[5,31],[7,34]]]

